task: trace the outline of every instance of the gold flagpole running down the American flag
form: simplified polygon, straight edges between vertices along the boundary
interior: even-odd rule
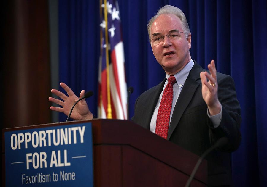
[[[106,40],[106,71],[107,71],[107,119],[112,119],[111,102],[110,102],[110,86],[109,86],[109,41],[108,41],[108,18],[107,18],[107,0],[104,0],[105,9],[105,40]]]

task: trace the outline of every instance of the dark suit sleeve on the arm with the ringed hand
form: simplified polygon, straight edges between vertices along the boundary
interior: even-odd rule
[[[220,78],[221,77],[221,78]],[[232,152],[238,149],[241,142],[241,109],[236,97],[233,78],[229,75],[218,76],[218,99],[222,104],[222,120],[217,128],[212,128],[212,122],[207,117],[211,144],[226,136],[229,143],[220,151]]]

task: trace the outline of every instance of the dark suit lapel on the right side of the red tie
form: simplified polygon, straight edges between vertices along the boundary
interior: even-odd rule
[[[182,114],[184,113],[186,107],[188,106],[189,102],[191,101],[197,87],[200,85],[200,82],[196,81],[200,79],[200,72],[202,68],[195,62],[194,66],[192,67],[189,75],[185,81],[184,87],[178,97],[178,100],[175,104],[174,111],[171,117],[171,123],[169,127],[168,137],[171,137],[174,129],[178,125]]]

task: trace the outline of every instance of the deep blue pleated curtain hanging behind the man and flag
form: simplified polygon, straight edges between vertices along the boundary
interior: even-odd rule
[[[147,22],[165,4],[182,9],[192,34],[192,59],[207,68],[215,60],[219,72],[231,75],[241,105],[242,142],[232,153],[236,186],[267,183],[267,26],[266,0],[119,0],[125,48],[127,85],[135,99],[157,85],[165,72],[155,60]],[[87,100],[97,115],[99,62],[99,1],[59,0],[59,80],[79,95],[93,90]],[[60,121],[66,120],[61,115]]]

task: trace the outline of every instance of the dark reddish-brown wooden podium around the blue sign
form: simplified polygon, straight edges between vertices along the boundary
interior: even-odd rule
[[[198,156],[149,130],[126,120],[73,121],[20,128],[2,132],[2,186],[5,186],[4,132],[57,125],[92,123],[94,186],[185,186]],[[204,160],[191,186],[207,186]]]

